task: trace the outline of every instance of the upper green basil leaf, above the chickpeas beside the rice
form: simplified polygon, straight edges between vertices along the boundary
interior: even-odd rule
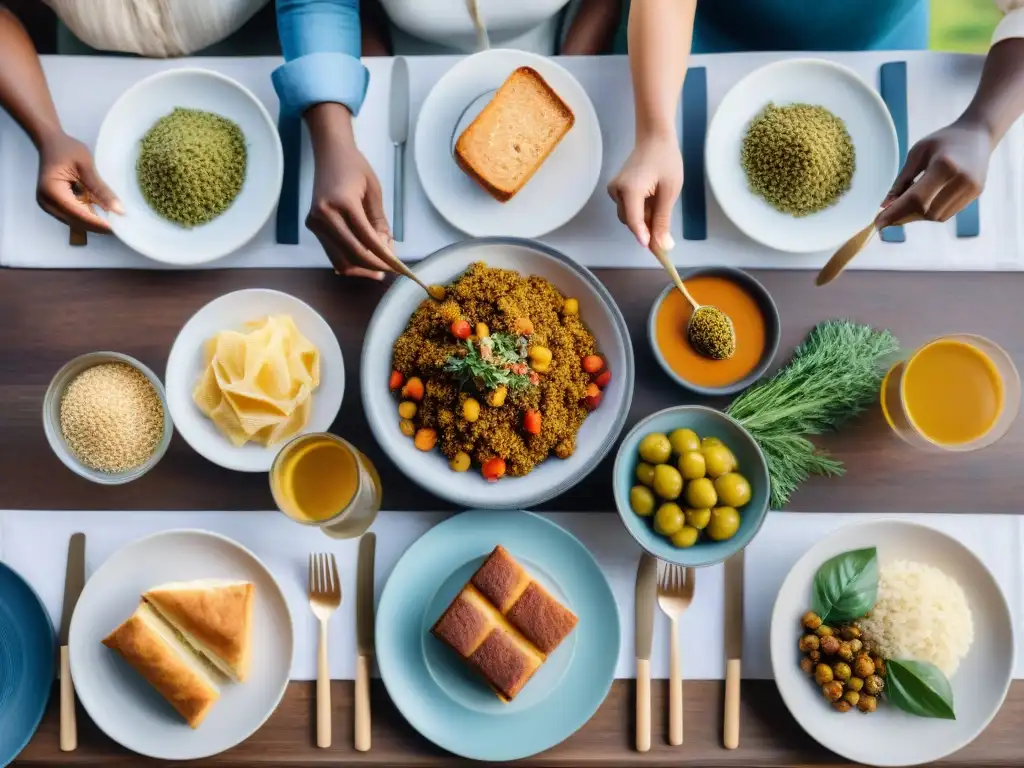
[[[814,574],[811,608],[822,622],[852,622],[874,607],[879,558],[874,547],[844,552]]]

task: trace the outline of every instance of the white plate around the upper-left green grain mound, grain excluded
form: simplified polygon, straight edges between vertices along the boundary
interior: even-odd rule
[[[161,218],[138,188],[139,142],[175,106],[234,121],[246,137],[246,180],[224,213],[191,229]],[[121,199],[111,228],[129,248],[167,264],[202,264],[237,251],[260,230],[278,205],[285,161],[278,129],[245,86],[209,70],[162,72],[125,91],[106,113],[96,138],[96,170]]]

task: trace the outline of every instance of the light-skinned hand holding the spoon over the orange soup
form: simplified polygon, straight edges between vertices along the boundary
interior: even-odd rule
[[[608,195],[618,208],[618,220],[644,248],[672,250],[672,207],[683,188],[683,157],[675,135],[637,139]]]

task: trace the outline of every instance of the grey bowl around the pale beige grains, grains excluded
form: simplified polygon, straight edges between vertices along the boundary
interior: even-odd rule
[[[103,362],[126,362],[132,368],[138,369],[150,380],[153,388],[157,390],[160,403],[164,407],[164,436],[157,445],[157,450],[140,465],[126,472],[100,472],[87,467],[76,456],[75,452],[72,451],[60,431],[60,399],[63,397],[68,385],[86,369]],[[174,433],[171,415],[167,410],[167,395],[164,393],[164,385],[160,383],[160,379],[157,378],[157,375],[153,371],[134,357],[129,357],[127,354],[121,354],[120,352],[89,352],[74,358],[57,371],[49,387],[46,388],[46,394],[43,397],[43,429],[46,432],[46,439],[49,441],[50,447],[53,449],[53,453],[57,455],[57,458],[63,462],[63,465],[68,469],[100,485],[123,485],[144,475],[157,466],[158,462],[164,457],[164,454],[167,453],[167,446],[171,443],[171,435]]]

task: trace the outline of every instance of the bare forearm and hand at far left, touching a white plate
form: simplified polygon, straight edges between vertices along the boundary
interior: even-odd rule
[[[121,203],[103,183],[92,155],[60,127],[39,56],[25,28],[0,6],[0,105],[25,129],[39,151],[36,200],[40,208],[75,228],[109,232],[110,225],[92,209],[123,213]]]

